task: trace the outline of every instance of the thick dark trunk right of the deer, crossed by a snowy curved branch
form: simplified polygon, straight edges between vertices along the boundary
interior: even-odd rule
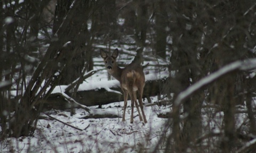
[[[172,70],[179,70],[175,74],[175,82],[170,88],[174,88],[174,99],[177,95],[201,78],[202,71],[198,69],[199,58],[198,48],[202,40],[201,5],[196,5],[195,1],[177,1],[172,3],[173,15],[170,34],[172,36],[172,56],[170,59]],[[195,9],[197,8],[197,9]],[[197,16],[193,16],[197,14]],[[186,18],[184,18],[186,16]],[[199,75],[200,74],[200,75]],[[187,98],[183,104],[184,120],[180,121],[180,108],[173,105],[175,118],[173,121],[174,146],[177,152],[186,151],[202,132],[201,109],[203,98],[200,91],[195,96]],[[182,130],[179,129],[183,123]]]

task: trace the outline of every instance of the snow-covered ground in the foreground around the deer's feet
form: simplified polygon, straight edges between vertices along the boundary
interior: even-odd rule
[[[157,100],[156,97],[151,97]],[[130,104],[130,100],[128,106]],[[103,108],[89,107],[92,114],[114,114],[122,116],[123,102],[104,105]],[[159,112],[170,110],[167,107],[144,107],[148,123],[139,121],[135,110],[134,123],[130,124],[131,107],[126,109],[126,121],[122,118],[83,119],[89,115],[83,109],[76,109],[76,115],[57,111],[51,114],[71,128],[46,115],[38,121],[34,137],[8,138],[1,143],[0,152],[138,152],[139,149],[152,149],[158,142],[166,119],[157,117]]]

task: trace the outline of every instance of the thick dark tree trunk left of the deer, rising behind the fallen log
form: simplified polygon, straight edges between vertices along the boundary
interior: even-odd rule
[[[61,74],[60,84],[69,84],[77,79],[81,75],[85,63],[83,46],[86,43],[86,39],[84,38],[83,27],[84,24],[87,24],[87,18],[90,12],[90,2],[76,1],[76,3],[79,5],[76,6],[73,14],[70,14],[70,12],[66,13],[66,11],[69,10],[70,2],[63,3],[65,4],[63,5],[61,4],[61,1],[59,1],[57,4],[57,15],[59,16],[58,20],[55,20],[55,26],[60,24],[59,22],[62,21],[61,16],[65,13],[67,14],[66,18],[68,18],[69,21],[60,24],[60,27],[57,30],[58,37],[63,42],[62,45],[65,44],[65,46],[68,46],[67,48],[63,48],[65,49],[65,52],[63,52],[65,55],[63,55],[63,58],[60,61],[61,65],[66,65],[66,69],[63,70],[64,72]],[[71,58],[71,61],[69,61],[69,58]]]

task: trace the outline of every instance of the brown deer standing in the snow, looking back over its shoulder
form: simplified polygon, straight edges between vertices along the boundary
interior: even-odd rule
[[[118,49],[115,49],[111,56],[108,55],[103,49],[101,49],[100,56],[103,58],[105,62],[105,66],[107,68],[108,73],[120,82],[121,88],[124,92],[124,112],[123,112],[122,121],[125,121],[125,110],[126,110],[127,99],[129,94],[132,102],[131,123],[133,123],[134,103],[138,110],[140,121],[144,120],[144,123],[147,123],[147,119],[143,111],[143,104],[142,104],[142,94],[143,94],[143,88],[145,86],[145,75],[143,73],[142,66],[135,62],[134,63],[132,62],[131,64],[127,65],[124,68],[120,68],[119,66],[117,66],[116,58],[118,56]],[[137,103],[137,94],[136,94],[137,91],[139,95],[139,103],[140,103],[143,120],[142,120],[140,109]]]

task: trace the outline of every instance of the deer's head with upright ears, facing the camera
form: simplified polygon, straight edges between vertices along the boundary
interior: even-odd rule
[[[103,49],[100,49],[100,56],[103,58],[105,67],[108,70],[108,73],[114,73],[114,69],[117,67],[116,65],[116,58],[118,56],[118,49],[115,49],[112,55],[110,56],[107,52]]]

